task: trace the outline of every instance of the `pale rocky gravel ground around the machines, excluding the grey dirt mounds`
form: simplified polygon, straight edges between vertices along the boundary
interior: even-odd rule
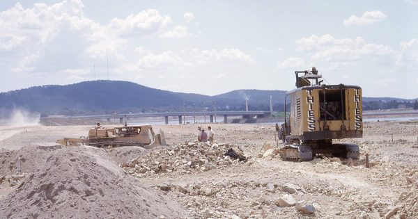
[[[281,161],[275,155],[274,124],[210,124],[216,146],[194,143],[197,126],[153,126],[164,130],[169,147],[111,149],[106,159],[132,175],[130,183],[140,181],[180,204],[189,218],[418,217],[417,123],[366,122],[364,138],[339,140],[359,145],[359,161],[316,158],[303,163]],[[54,145],[58,138],[86,136],[89,128],[0,127],[0,147]],[[265,154],[263,145],[269,144],[271,153]],[[242,151],[247,161],[224,156],[229,147]],[[366,153],[370,168],[364,166]],[[25,180],[15,180],[11,173],[10,168],[0,172],[7,178],[0,184],[0,200]]]

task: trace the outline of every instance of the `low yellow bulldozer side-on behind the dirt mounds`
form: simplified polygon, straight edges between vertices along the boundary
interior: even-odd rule
[[[123,147],[166,145],[162,130],[155,134],[150,124],[102,127],[98,124],[88,131],[87,138],[63,138],[56,143],[65,146],[91,145],[95,147]]]

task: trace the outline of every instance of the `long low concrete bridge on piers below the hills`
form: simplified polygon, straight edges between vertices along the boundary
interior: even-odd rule
[[[109,115],[82,115],[82,116],[72,116],[70,118],[90,118],[90,119],[119,119],[119,123],[123,124],[124,120],[127,121],[128,118],[133,117],[164,117],[165,124],[169,124],[169,117],[178,117],[178,123],[182,124],[184,116],[199,116],[199,115],[209,115],[210,122],[213,122],[214,116],[223,115],[224,122],[228,123],[228,116],[242,116],[242,118],[252,118],[252,117],[268,117],[270,111],[206,111],[206,112],[174,112],[174,113],[127,113],[127,114],[109,114]]]

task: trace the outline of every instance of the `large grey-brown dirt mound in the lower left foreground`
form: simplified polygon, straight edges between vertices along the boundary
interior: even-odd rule
[[[95,149],[52,152],[0,202],[6,218],[183,218],[183,210]]]

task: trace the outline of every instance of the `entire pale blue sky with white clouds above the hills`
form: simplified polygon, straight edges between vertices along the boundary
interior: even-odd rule
[[[107,79],[291,90],[315,66],[365,97],[413,99],[417,22],[418,0],[0,1],[0,92]]]

